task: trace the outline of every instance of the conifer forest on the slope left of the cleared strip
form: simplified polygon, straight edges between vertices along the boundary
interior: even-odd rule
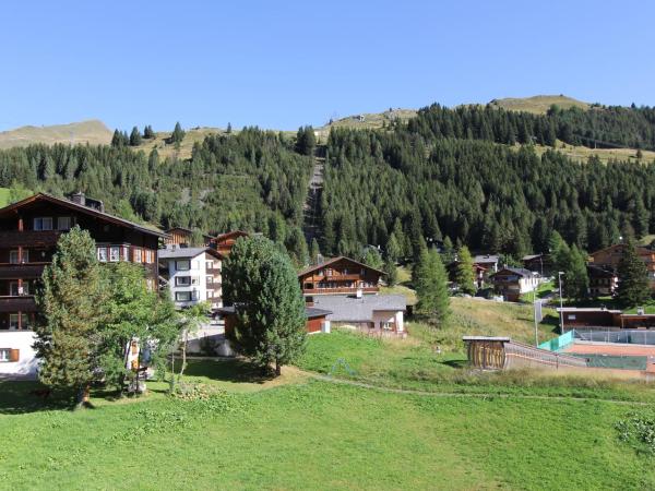
[[[285,241],[301,225],[312,168],[294,144],[246,128],[207,136],[189,160],[123,145],[31,145],[0,151],[0,187],[56,195],[83,190],[128,219],[211,233],[239,228]]]

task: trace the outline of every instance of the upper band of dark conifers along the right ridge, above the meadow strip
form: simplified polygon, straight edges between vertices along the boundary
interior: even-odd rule
[[[552,106],[546,115],[534,115],[489,105],[449,109],[436,104],[419,110],[406,127],[408,131],[428,139],[547,146],[553,146],[559,139],[571,145],[592,148],[655,148],[655,108],[652,107],[593,106],[584,110]]]

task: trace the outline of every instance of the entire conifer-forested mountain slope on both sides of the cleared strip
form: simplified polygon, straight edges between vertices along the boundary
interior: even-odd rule
[[[395,242],[408,255],[422,237],[519,258],[545,251],[552,230],[586,250],[620,235],[646,236],[655,231],[655,163],[643,154],[579,163],[552,145],[652,146],[654,113],[433,105],[381,128],[332,128],[318,211],[322,252],[359,255],[366,244]],[[187,142],[187,158],[148,149],[155,143],[0,151],[0,187],[14,195],[16,187],[83,190],[112,213],[164,228],[261,231],[295,251],[299,263],[307,259],[300,227],[313,165],[310,127],[298,139],[257,128],[209,132]]]

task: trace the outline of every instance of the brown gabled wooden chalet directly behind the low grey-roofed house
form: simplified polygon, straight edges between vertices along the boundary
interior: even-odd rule
[[[302,270],[298,280],[306,296],[378,294],[383,275],[384,272],[340,256]]]

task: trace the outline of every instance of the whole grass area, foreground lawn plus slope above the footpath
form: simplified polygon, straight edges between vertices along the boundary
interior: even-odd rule
[[[407,339],[309,336],[301,370],[279,379],[242,360],[192,360],[184,382],[204,396],[191,400],[148,382],[146,396],[96,390],[94,409],[71,411],[37,397],[36,383],[0,382],[11,443],[0,447],[0,489],[655,488],[653,457],[615,429],[655,402],[654,388],[473,372],[461,346],[436,351],[458,336],[457,315],[474,323],[463,330],[520,336],[528,308],[456,299],[453,309],[454,324],[409,323]]]

